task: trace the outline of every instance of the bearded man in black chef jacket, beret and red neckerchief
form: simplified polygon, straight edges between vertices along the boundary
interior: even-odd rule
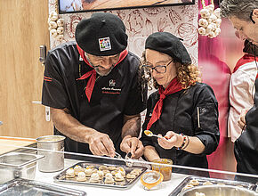
[[[139,158],[146,91],[138,81],[140,60],[125,49],[123,21],[93,13],[78,23],[75,36],[45,62],[42,102],[51,108],[54,134],[67,136],[66,151]]]

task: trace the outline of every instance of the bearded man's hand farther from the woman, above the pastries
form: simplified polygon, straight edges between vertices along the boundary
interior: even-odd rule
[[[86,135],[86,141],[89,143],[90,150],[94,155],[115,156],[115,147],[109,135],[102,134],[98,131],[92,131],[90,135]]]

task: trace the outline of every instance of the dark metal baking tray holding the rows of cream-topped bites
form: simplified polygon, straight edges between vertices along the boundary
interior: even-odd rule
[[[124,167],[125,169],[125,175],[127,175],[128,173],[130,173],[131,171],[133,171],[134,168],[140,168],[141,169],[141,174],[139,176],[136,176],[134,179],[126,179],[122,182],[116,182],[114,184],[105,184],[104,180],[105,177],[103,177],[102,180],[99,181],[99,183],[90,183],[89,182],[89,178],[87,178],[87,180],[85,182],[79,182],[77,181],[76,177],[74,178],[67,178],[66,177],[66,171],[69,168],[74,168],[76,166],[80,166],[80,167],[84,167],[86,168],[87,166],[93,166],[94,168],[99,168],[100,166],[114,166],[114,167]],[[133,167],[126,167],[125,165],[116,165],[116,164],[97,164],[97,163],[93,163],[93,162],[79,162],[77,164],[75,164],[72,167],[69,167],[67,169],[65,169],[64,171],[62,171],[59,175],[54,176],[54,182],[55,183],[69,183],[69,184],[87,184],[87,185],[93,185],[93,186],[102,186],[102,187],[111,187],[111,188],[119,188],[119,189],[126,189],[129,188],[130,186],[132,186],[139,178],[140,176],[147,170],[147,167],[141,167],[141,166],[133,166]]]

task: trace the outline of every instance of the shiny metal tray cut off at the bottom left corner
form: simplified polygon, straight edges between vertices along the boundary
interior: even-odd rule
[[[77,191],[52,184],[16,178],[0,186],[1,196],[85,196],[86,192]]]

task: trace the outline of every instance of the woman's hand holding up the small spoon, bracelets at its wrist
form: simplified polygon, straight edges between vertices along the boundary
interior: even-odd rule
[[[173,131],[168,131],[164,137],[157,139],[157,143],[164,149],[172,149],[173,147],[180,147],[182,142],[183,142],[182,136],[174,133]]]

